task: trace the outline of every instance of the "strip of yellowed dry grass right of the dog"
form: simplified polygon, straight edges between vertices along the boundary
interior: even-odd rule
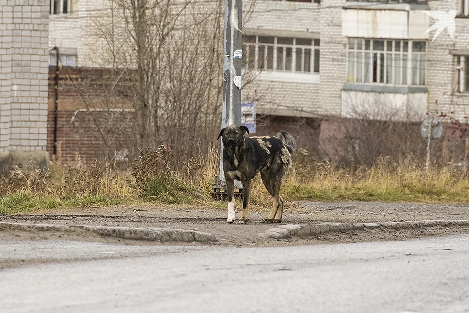
[[[430,168],[380,159],[371,168],[297,162],[284,186],[296,199],[468,203],[469,174],[451,166]]]

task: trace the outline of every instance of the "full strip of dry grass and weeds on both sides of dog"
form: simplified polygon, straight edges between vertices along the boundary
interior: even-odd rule
[[[156,201],[217,205],[210,198],[218,174],[219,152],[197,150],[192,158],[160,148],[135,160],[133,172],[112,165],[63,167],[53,164],[0,180],[0,212],[18,213],[59,207],[84,207]],[[371,168],[345,168],[298,155],[282,189],[285,200],[397,201],[469,203],[469,174],[447,166],[430,168],[380,159]],[[260,177],[253,181],[252,203],[268,206],[271,197]],[[220,204],[221,205],[221,204]]]

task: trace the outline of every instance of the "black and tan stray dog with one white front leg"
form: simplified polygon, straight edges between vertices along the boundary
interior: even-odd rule
[[[234,180],[243,184],[243,211],[239,223],[245,224],[248,219],[248,205],[251,193],[251,179],[258,172],[274,204],[269,217],[262,223],[280,223],[283,215],[283,199],[280,187],[291,165],[291,153],[296,149],[295,139],[286,131],[277,137],[245,137],[249,130],[246,126],[230,125],[221,130],[217,139],[223,141],[223,171],[228,194],[228,223],[235,221]]]

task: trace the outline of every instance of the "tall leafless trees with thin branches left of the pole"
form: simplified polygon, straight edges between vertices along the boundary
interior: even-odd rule
[[[90,91],[97,81],[107,81],[99,84],[107,86],[100,95],[100,107],[109,112],[107,122],[116,121],[112,114],[134,109],[134,144],[142,154],[160,145],[179,155],[192,155],[193,142],[200,142],[203,150],[212,146],[221,118],[224,1],[102,2],[103,8],[93,10],[86,25],[90,55],[84,65],[106,69],[107,74],[81,85]],[[246,2],[243,22],[249,21],[255,3]],[[257,76],[245,71],[243,87]],[[126,90],[119,91],[123,86]],[[90,98],[86,92],[81,96]],[[262,102],[262,97],[255,91],[245,98]],[[86,108],[97,106],[96,101],[85,102]],[[103,128],[108,123],[95,124]]]

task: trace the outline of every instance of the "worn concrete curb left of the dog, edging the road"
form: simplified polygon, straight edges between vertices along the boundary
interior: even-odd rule
[[[131,228],[131,227],[101,227],[101,226],[65,226],[50,224],[22,224],[0,222],[0,230],[39,230],[79,232],[85,231],[103,237],[115,237],[133,240],[151,240],[161,242],[214,242],[217,241],[213,234],[195,230],[171,229],[171,228]]]

